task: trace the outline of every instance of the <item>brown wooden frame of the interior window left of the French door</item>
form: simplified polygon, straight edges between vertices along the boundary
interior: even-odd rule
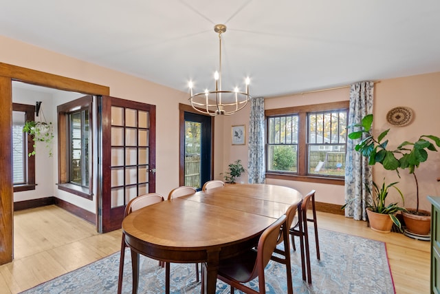
[[[73,193],[89,200],[93,199],[93,127],[92,127],[92,110],[93,96],[84,96],[74,101],[58,105],[58,189]],[[89,187],[83,187],[70,182],[70,116],[74,112],[81,110],[89,111]]]

